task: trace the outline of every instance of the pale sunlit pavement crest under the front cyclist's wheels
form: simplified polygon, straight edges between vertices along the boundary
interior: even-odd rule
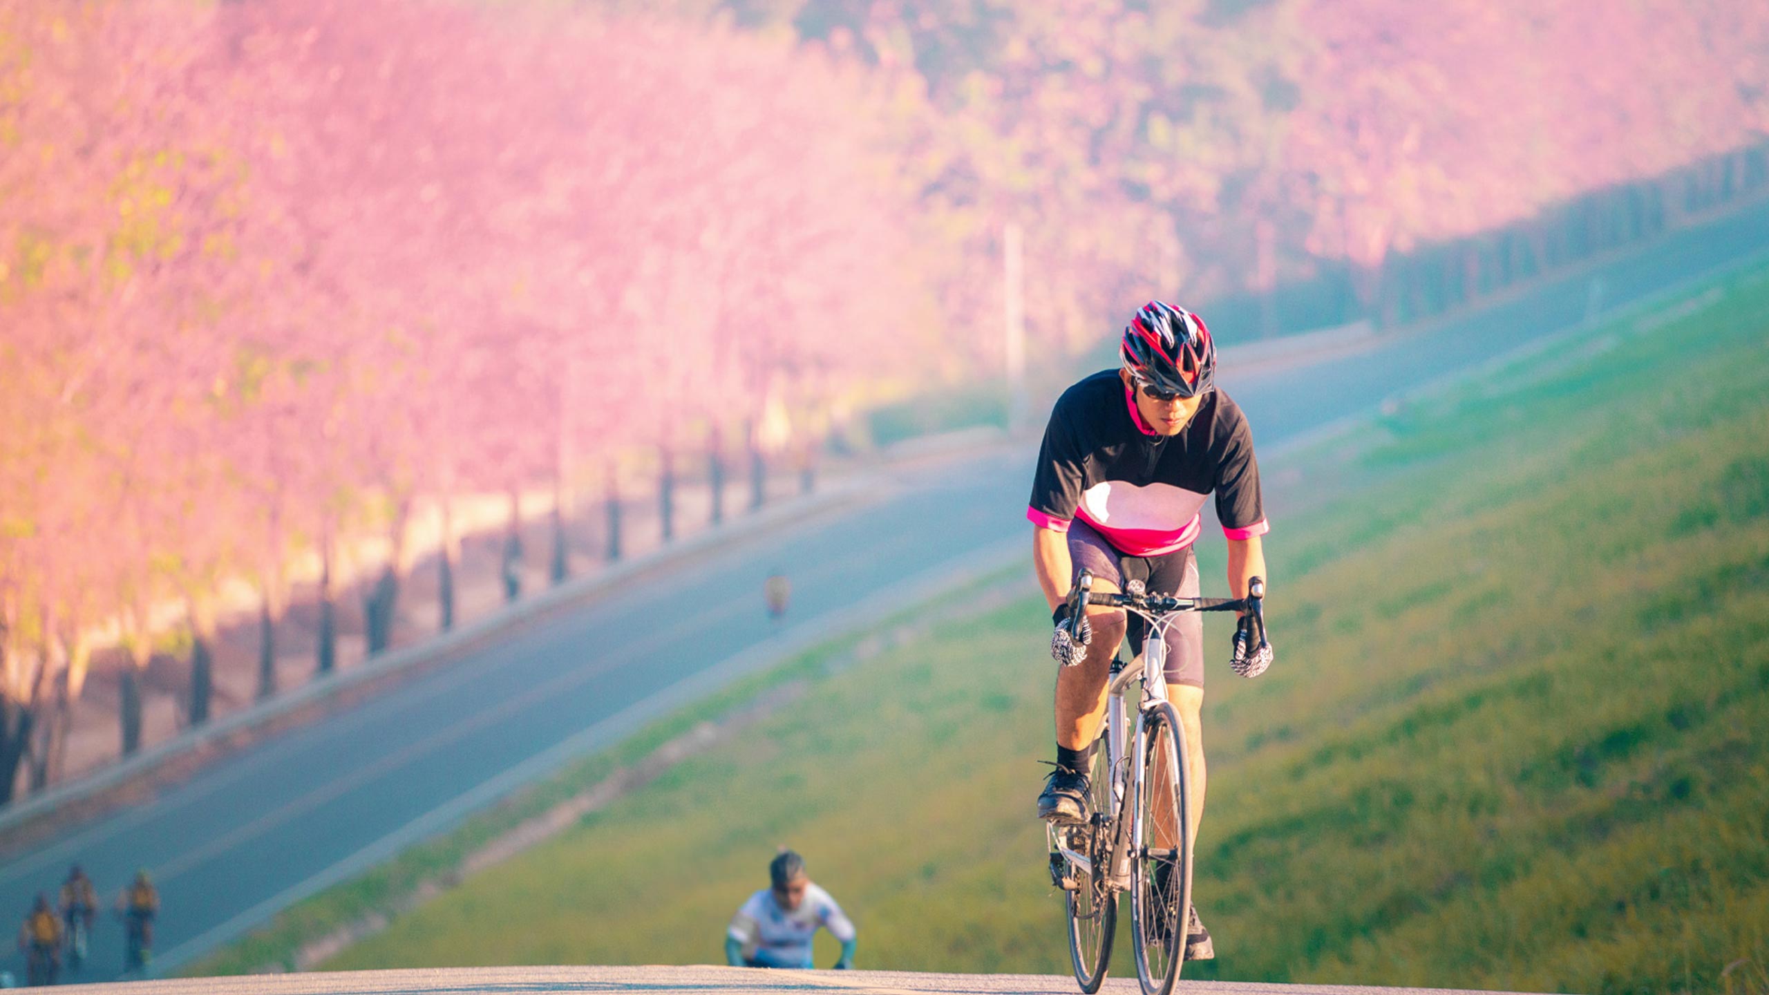
[[[1447,988],[1346,984],[1247,984],[1185,981],[1180,995],[1451,995]],[[340,974],[269,974],[92,984],[92,995],[463,995],[469,991],[566,995],[1076,995],[1076,979],[1040,974],[909,974],[899,970],[762,970],[747,967],[453,967]],[[1107,995],[1136,995],[1136,977],[1113,977]]]

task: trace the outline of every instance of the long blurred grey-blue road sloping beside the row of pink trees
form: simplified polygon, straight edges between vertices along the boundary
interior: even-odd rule
[[[1608,264],[1606,303],[1619,306],[1764,248],[1769,205]],[[1576,322],[1585,301],[1580,276],[1357,356],[1240,375],[1229,368],[1222,382],[1268,451]],[[770,643],[900,591],[906,579],[952,574],[1022,542],[1030,462],[1030,451],[1014,450],[897,467],[860,506],[697,554],[566,618],[513,632],[495,650],[9,859],[0,866],[0,910],[21,917],[32,892],[53,887],[71,860],[111,894],[147,866],[166,908],[159,967],[173,967],[444,829],[561,754],[612,742],[642,713],[709,690],[731,676],[734,667],[722,662],[734,655],[764,660]],[[1274,542],[1281,536],[1277,522]],[[761,611],[762,577],[777,565],[794,579],[796,625],[787,632],[773,632]],[[83,977],[115,977],[120,926],[103,921],[92,947]],[[0,968],[23,974],[16,954]]]

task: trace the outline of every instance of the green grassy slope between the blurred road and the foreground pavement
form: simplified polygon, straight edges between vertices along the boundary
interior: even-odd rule
[[[1769,278],[1702,301],[1311,457],[1380,483],[1275,522],[1267,676],[1206,630],[1219,960],[1189,977],[1769,990]],[[1045,627],[1028,597],[803,662],[791,713],[325,967],[718,961],[793,845],[862,967],[1065,972]]]

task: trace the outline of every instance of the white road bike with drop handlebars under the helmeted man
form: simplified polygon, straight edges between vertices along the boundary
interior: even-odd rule
[[[1093,575],[1083,570],[1068,593],[1070,618],[1079,618],[1084,605],[1111,605],[1141,616],[1148,630],[1134,660],[1118,655],[1111,664],[1100,731],[1106,749],[1093,751],[1088,818],[1047,823],[1051,880],[1063,891],[1068,956],[1083,991],[1093,995],[1106,981],[1118,896],[1129,891],[1137,981],[1145,995],[1169,995],[1185,960],[1192,839],[1185,818],[1191,811],[1185,726],[1168,701],[1164,637],[1182,613],[1245,611],[1263,643],[1265,581],[1252,577],[1245,598],[1148,595],[1141,581],[1130,581],[1122,593],[1095,593],[1091,586]],[[1143,690],[1132,721],[1125,689],[1139,678]]]

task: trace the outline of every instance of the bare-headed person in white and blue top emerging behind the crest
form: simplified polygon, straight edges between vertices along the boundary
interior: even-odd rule
[[[770,887],[750,896],[725,929],[731,967],[814,967],[810,937],[819,926],[842,942],[835,970],[854,967],[854,924],[830,892],[805,875],[805,859],[782,850],[768,864]]]

